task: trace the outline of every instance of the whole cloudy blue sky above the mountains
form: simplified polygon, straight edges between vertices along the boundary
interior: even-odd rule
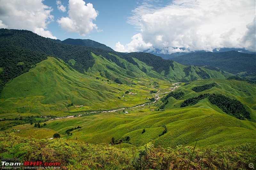
[[[255,0],[0,0],[0,28],[119,52],[256,51]]]

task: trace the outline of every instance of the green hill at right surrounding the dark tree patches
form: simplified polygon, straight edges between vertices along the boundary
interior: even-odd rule
[[[196,86],[203,86],[205,84],[216,83],[211,89],[207,89],[201,92],[195,92],[192,89]],[[168,104],[166,104],[165,109],[180,108],[180,104],[188,98],[197,97],[200,94],[210,93],[210,94],[221,94],[231,99],[237,99],[244,104],[246,110],[250,112],[251,121],[256,121],[256,84],[250,84],[246,81],[236,81],[236,80],[224,80],[224,79],[210,79],[210,80],[198,80],[188,83],[176,90],[177,92],[184,92],[185,95],[179,100],[173,97],[169,98]],[[208,99],[203,99],[195,105],[187,107],[202,107],[211,108],[217,112],[225,114],[217,106],[211,104]]]

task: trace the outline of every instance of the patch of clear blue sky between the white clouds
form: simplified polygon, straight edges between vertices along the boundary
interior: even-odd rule
[[[62,0],[61,2],[68,11],[68,0]],[[52,6],[52,15],[54,15],[55,20],[68,16],[67,11],[60,12],[57,9],[56,1],[45,0],[43,3],[47,6]],[[48,25],[48,30],[51,30],[52,35],[60,40],[67,38],[92,39],[114,49],[118,41],[125,44],[130,43],[131,37],[139,33],[133,25],[127,23],[127,18],[131,16],[131,11],[138,5],[137,1],[90,0],[85,1],[85,3],[93,4],[93,8],[99,12],[96,19],[93,20],[99,31],[94,29],[87,35],[80,36],[78,33],[69,33],[61,29],[59,23],[55,21]]]

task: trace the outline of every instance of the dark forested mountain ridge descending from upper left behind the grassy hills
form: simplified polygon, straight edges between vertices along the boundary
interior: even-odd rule
[[[96,56],[102,56],[102,58],[106,58],[113,64],[113,66],[105,66],[104,68],[101,68],[103,70],[96,70],[97,74],[102,73],[103,77],[106,77],[106,75],[103,74],[105,71],[111,72],[111,69],[115,68],[117,65],[117,67],[120,68],[119,70],[126,70],[126,73],[124,73],[124,76],[126,77],[128,77],[128,74],[131,74],[130,72],[137,70],[138,74],[145,73],[150,77],[156,77],[162,80],[171,79],[178,81],[191,81],[205,78],[224,78],[224,76],[218,72],[213,72],[204,68],[200,68],[201,70],[199,70],[199,68],[196,67],[189,67],[185,69],[186,66],[180,65],[171,60],[165,60],[161,57],[149,53],[134,52],[127,54],[116,52],[114,50],[103,50],[101,48],[56,43],[52,41],[52,39],[44,38],[27,30],[2,28],[0,29],[0,43],[0,79],[3,80],[1,81],[0,90],[3,89],[7,81],[12,80],[16,76],[28,71],[29,67],[33,67],[33,65],[41,62],[42,59],[45,59],[34,58],[32,59],[33,62],[30,62],[29,64],[27,61],[31,59],[24,59],[21,57],[27,55],[28,52],[25,51],[31,51],[31,53],[35,51],[35,53],[60,58],[64,62],[69,63],[69,65],[76,71],[83,74],[86,74],[89,68],[89,72],[92,73],[92,67],[95,66],[95,58],[92,57],[93,53]],[[14,47],[13,49],[18,50],[17,53],[20,53],[21,55],[16,55],[16,52],[14,52],[14,54],[11,52],[12,55],[7,57],[7,53],[5,51],[6,49],[12,51],[12,47]],[[15,58],[15,62],[9,60],[8,58]],[[24,63],[24,66],[27,67],[23,68],[24,66],[20,66],[19,63]],[[105,64],[103,63],[103,65]],[[6,69],[6,66],[8,66],[9,69]],[[19,71],[18,67],[19,69],[21,67],[22,70]],[[135,67],[139,68],[140,71],[135,69]],[[10,69],[12,69],[11,72],[13,72],[13,74],[4,77],[3,75],[7,74],[7,71]]]

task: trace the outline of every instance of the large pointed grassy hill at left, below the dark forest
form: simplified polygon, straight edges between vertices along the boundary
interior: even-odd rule
[[[113,99],[121,96],[129,87],[97,80],[96,77],[76,72],[62,60],[48,58],[27,73],[9,81],[0,95],[1,113],[59,114],[81,110],[110,110],[118,108]],[[118,93],[120,91],[120,93]],[[140,93],[140,94],[139,94]],[[146,91],[119,100],[120,107],[145,103],[150,97]],[[148,95],[148,96],[147,96]],[[81,108],[68,104],[83,105]]]

